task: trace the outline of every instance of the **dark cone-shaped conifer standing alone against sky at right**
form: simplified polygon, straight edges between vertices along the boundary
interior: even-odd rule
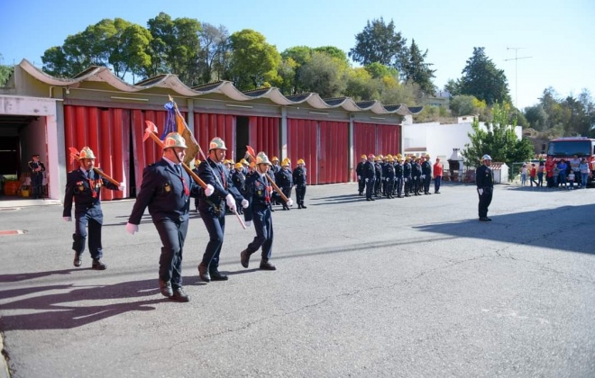
[[[504,70],[496,67],[482,47],[473,48],[473,55],[462,69],[460,94],[473,95],[488,105],[510,102]]]

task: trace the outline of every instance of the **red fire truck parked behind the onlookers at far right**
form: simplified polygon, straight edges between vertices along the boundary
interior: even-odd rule
[[[593,176],[593,170],[595,170],[595,139],[587,137],[558,138],[550,140],[547,146],[547,157],[552,157],[556,162],[561,159],[568,162],[574,155],[587,159],[590,167],[589,184],[593,185],[595,180],[595,176]]]

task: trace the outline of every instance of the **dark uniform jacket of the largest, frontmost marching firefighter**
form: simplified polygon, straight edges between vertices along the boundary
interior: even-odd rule
[[[149,207],[153,222],[170,219],[176,222],[188,220],[190,197],[203,193],[188,172],[180,166],[181,173],[169,161],[161,158],[142,171],[141,191],[136,196],[129,222],[140,224],[142,213]]]

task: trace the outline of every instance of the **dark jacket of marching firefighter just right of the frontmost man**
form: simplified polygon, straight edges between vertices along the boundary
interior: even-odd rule
[[[243,196],[240,191],[233,185],[233,182],[228,179],[227,169],[223,164],[215,163],[210,157],[198,166],[198,177],[200,177],[206,184],[212,184],[215,192],[207,197],[205,193],[201,193],[198,197],[198,209],[201,211],[213,211],[216,214],[221,214],[225,211],[225,197],[227,194],[232,194],[236,202],[241,202]]]

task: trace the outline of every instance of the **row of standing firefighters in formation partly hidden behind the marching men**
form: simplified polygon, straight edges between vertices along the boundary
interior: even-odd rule
[[[280,164],[279,157],[272,157],[270,162],[272,163],[272,166],[267,172],[267,175],[270,176],[272,182],[279,186],[279,189],[287,198],[291,198],[291,192],[295,186],[298,209],[307,209],[306,204],[304,204],[307,186],[307,169],[304,159],[298,159],[298,166],[294,169],[291,168],[291,160],[287,157],[284,158]],[[240,190],[240,193],[243,193],[246,177],[255,172],[256,162],[254,160],[248,162],[248,160],[243,158],[237,163],[234,163],[232,159],[226,159],[223,163],[226,168],[227,180],[233,182],[233,185]],[[195,166],[196,168],[194,171],[197,173],[197,167],[200,166],[200,159],[197,158],[195,160]],[[279,193],[277,192],[271,193],[270,202],[272,204],[282,205],[283,210],[290,210],[288,204],[281,200]],[[198,199],[195,200],[195,208],[198,209]],[[237,210],[238,213],[243,213],[240,204],[237,205]],[[271,209],[271,211],[274,210]]]

